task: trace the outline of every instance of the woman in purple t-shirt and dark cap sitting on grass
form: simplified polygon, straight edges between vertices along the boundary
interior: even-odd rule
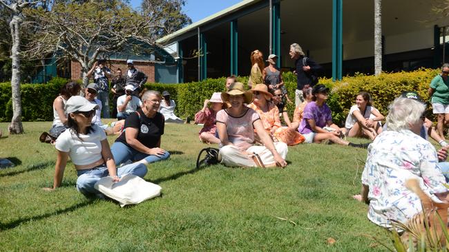
[[[298,128],[298,132],[305,137],[305,143],[321,143],[323,140],[330,140],[338,145],[367,147],[364,144],[354,144],[341,139],[341,136],[345,134],[344,129],[332,122],[332,114],[326,104],[328,92],[329,89],[323,84],[313,87],[313,101],[305,105],[303,120]]]

